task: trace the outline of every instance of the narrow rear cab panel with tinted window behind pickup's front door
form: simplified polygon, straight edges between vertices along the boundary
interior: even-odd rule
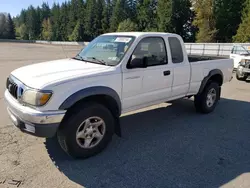
[[[187,55],[184,55],[185,49],[184,45],[181,45],[181,39],[168,37],[168,42],[174,69],[171,96],[172,98],[181,98],[185,96],[189,90],[191,68]]]

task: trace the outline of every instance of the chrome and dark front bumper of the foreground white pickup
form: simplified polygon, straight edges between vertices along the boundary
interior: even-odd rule
[[[38,137],[53,137],[66,111],[41,112],[21,105],[8,90],[4,94],[7,111],[13,124],[22,132]]]

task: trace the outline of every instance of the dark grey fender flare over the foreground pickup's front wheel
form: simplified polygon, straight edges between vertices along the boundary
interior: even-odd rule
[[[118,93],[105,86],[94,86],[94,87],[88,87],[82,90],[79,90],[75,92],[74,94],[70,95],[59,107],[59,110],[66,110],[69,109],[71,106],[73,106],[75,103],[78,101],[86,98],[86,97],[91,97],[91,96],[96,96],[96,95],[106,95],[111,97],[112,99],[115,100],[118,110],[119,110],[119,115],[121,114],[121,100],[118,95]]]

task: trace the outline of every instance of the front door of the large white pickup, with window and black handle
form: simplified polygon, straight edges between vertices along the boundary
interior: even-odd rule
[[[143,67],[146,59],[147,67]],[[173,81],[172,68],[168,66],[168,55],[165,40],[162,37],[146,37],[136,46],[130,67],[123,73],[123,107],[141,108],[167,100],[171,96]],[[140,88],[133,87],[141,82]],[[130,86],[135,93],[125,92]]]

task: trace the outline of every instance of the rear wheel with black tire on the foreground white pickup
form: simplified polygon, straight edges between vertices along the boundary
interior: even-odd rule
[[[208,114],[214,111],[220,98],[220,86],[216,82],[209,83],[201,94],[194,97],[197,112]]]

